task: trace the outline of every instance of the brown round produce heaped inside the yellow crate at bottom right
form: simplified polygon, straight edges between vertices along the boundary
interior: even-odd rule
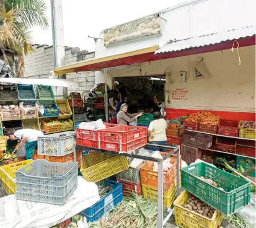
[[[196,196],[190,196],[187,202],[183,205],[184,208],[187,208],[194,213],[198,213],[201,216],[209,217],[210,219],[213,217],[214,209],[211,208],[208,204],[196,198]]]

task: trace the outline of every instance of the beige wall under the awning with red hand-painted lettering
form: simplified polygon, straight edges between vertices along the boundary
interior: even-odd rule
[[[142,75],[167,74],[166,108],[185,108],[196,110],[227,110],[236,112],[255,112],[255,46],[239,48],[241,66],[236,50],[214,51],[203,55],[153,61],[151,66],[141,65]],[[193,66],[203,61],[211,74],[209,79],[195,80]],[[179,82],[179,72],[187,71],[187,82]],[[107,82],[111,78],[139,76],[138,66],[129,69],[108,71]],[[187,100],[172,99],[172,91],[184,89]],[[169,100],[168,103],[168,92]]]

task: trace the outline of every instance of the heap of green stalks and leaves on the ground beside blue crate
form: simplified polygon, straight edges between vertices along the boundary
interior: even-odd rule
[[[106,214],[105,219],[89,224],[90,228],[153,228],[157,227],[157,204],[152,200],[133,194],[133,198],[124,197],[123,201]]]

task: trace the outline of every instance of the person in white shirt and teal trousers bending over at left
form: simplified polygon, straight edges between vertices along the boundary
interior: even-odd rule
[[[12,154],[14,154],[19,146],[25,144],[26,148],[26,159],[32,159],[32,154],[37,147],[38,136],[43,136],[42,131],[37,131],[35,129],[20,129],[14,133],[9,131],[6,134],[11,140],[18,140],[20,143],[17,144]]]

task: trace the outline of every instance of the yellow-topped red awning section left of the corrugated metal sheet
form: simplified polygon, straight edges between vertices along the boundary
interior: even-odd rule
[[[89,59],[78,63],[69,64],[55,68],[55,75],[67,74],[79,71],[97,71],[105,68],[113,68],[117,66],[124,66],[136,63],[143,63],[145,61],[156,60],[154,52],[158,46],[151,46],[136,51],[128,51],[117,55],[106,56],[102,58]]]

